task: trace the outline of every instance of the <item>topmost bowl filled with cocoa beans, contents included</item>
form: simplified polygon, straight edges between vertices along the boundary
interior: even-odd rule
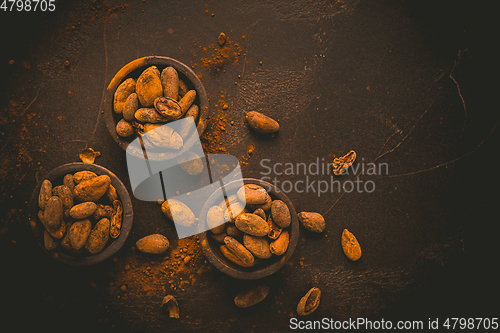
[[[189,150],[208,117],[200,78],[184,63],[163,56],[142,57],[123,66],[111,79],[103,105],[113,139],[139,158],[147,150],[151,160],[173,159]],[[189,117],[192,128],[174,124]]]

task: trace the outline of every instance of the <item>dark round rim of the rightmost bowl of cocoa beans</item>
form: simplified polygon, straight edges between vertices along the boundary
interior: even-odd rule
[[[245,185],[247,184],[256,184],[264,187],[266,190],[268,190],[269,193],[273,194],[276,196],[277,200],[283,201],[288,209],[290,210],[290,241],[288,244],[288,249],[286,250],[285,254],[281,256],[281,259],[278,261],[274,262],[273,264],[269,266],[262,267],[258,270],[255,271],[243,271],[239,270],[236,267],[235,264],[229,263],[228,260],[221,259],[218,254],[212,250],[210,246],[210,241],[208,239],[207,233],[209,231],[201,232],[199,234],[200,238],[200,244],[203,249],[203,252],[205,253],[205,256],[208,258],[208,260],[215,266],[217,269],[219,269],[221,272],[237,278],[237,279],[242,279],[242,280],[254,280],[254,279],[261,279],[266,276],[269,276],[275,272],[277,272],[285,263],[290,259],[292,256],[293,252],[295,251],[295,247],[297,246],[298,240],[299,240],[299,221],[297,217],[297,212],[295,211],[295,207],[293,206],[291,200],[286,196],[286,194],[281,191],[278,187],[274,186],[271,183],[268,183],[266,181],[260,180],[260,179],[255,179],[255,178],[243,178],[239,180],[232,181],[230,183],[225,184],[223,187],[225,189],[232,189],[233,187],[237,187],[241,184],[241,181],[243,180],[243,183]],[[215,196],[218,194],[218,192],[221,191],[221,189],[215,191],[205,202],[205,205],[203,206],[200,217],[199,217],[199,224],[198,227],[200,230],[202,230],[202,227],[206,224],[206,216],[208,213],[208,210],[210,207],[213,206],[213,201],[215,201]],[[221,244],[222,245],[222,244]]]

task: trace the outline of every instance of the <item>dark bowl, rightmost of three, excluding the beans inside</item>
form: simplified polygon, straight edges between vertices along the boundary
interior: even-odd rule
[[[297,212],[295,211],[295,208],[293,207],[290,199],[288,199],[285,193],[283,193],[276,186],[260,179],[253,178],[245,178],[243,179],[243,182],[245,184],[256,184],[264,187],[268,191],[269,195],[271,195],[271,198],[273,200],[279,199],[286,203],[286,205],[288,206],[292,220],[290,226],[287,228],[290,233],[290,243],[288,244],[288,249],[285,254],[283,254],[282,256],[273,255],[271,258],[265,259],[261,263],[253,267],[241,267],[224,257],[224,255],[219,250],[219,247],[222,244],[218,243],[208,235],[208,233],[210,233],[211,231],[200,233],[199,238],[205,256],[221,272],[237,279],[253,280],[260,279],[275,273],[290,259],[299,240],[299,220],[297,218]],[[224,188],[227,191],[230,191],[235,190],[239,187],[239,185],[240,181],[233,181],[227,184]],[[218,204],[218,202],[216,201],[220,200],[222,195],[221,192],[222,190],[215,191],[203,206],[199,221],[200,230],[206,230],[204,228],[206,228],[206,216],[208,210],[213,205]]]

